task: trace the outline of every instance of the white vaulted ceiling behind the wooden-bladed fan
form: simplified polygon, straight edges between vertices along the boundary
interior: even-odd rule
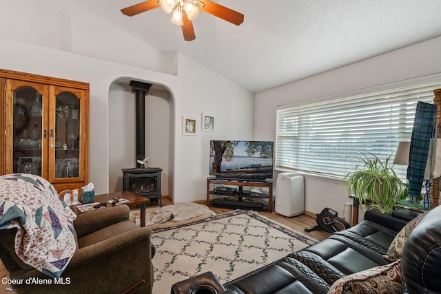
[[[236,26],[201,12],[191,42],[161,8],[121,13],[141,1],[72,3],[253,93],[441,36],[440,0],[213,0],[245,14],[245,21]]]

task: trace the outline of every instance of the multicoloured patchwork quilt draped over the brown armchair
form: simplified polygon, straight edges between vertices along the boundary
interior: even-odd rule
[[[75,253],[75,218],[47,180],[0,176],[0,229],[17,228],[15,252],[25,264],[59,277]]]

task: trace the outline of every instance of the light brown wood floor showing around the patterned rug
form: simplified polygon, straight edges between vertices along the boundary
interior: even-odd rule
[[[200,201],[198,203],[205,204],[205,201]],[[163,197],[163,204],[170,205],[172,204],[172,201],[169,198]],[[234,209],[226,209],[221,207],[210,207],[210,209],[212,209],[212,211],[214,211],[217,214],[226,213],[228,211],[234,210]],[[281,224],[284,224],[285,226],[290,227],[291,229],[300,231],[305,235],[309,235],[311,238],[315,238],[318,241],[324,240],[328,236],[327,233],[323,233],[320,231],[312,231],[310,233],[305,232],[305,228],[312,227],[316,224],[315,218],[311,218],[310,216],[307,216],[305,214],[302,214],[300,216],[294,216],[292,218],[287,218],[285,216],[281,216],[276,212],[269,213],[268,211],[258,211],[258,213],[260,213],[263,216],[266,216],[267,218],[270,218],[271,220],[280,222]],[[3,262],[0,261],[0,278],[8,277],[8,276],[9,276],[8,271],[6,271]],[[6,285],[0,283],[0,294],[15,293],[14,291],[6,291],[5,286]]]

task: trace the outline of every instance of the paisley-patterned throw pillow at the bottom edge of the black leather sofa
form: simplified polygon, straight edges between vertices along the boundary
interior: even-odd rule
[[[349,293],[403,293],[404,277],[401,260],[391,264],[376,266],[342,277],[332,284],[328,294]]]

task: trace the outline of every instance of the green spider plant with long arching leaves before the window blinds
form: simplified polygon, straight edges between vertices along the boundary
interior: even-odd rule
[[[391,154],[392,155],[392,154]],[[347,191],[358,200],[380,213],[392,213],[398,199],[405,198],[407,187],[393,171],[389,155],[384,162],[375,154],[361,154],[362,161],[345,176]]]

